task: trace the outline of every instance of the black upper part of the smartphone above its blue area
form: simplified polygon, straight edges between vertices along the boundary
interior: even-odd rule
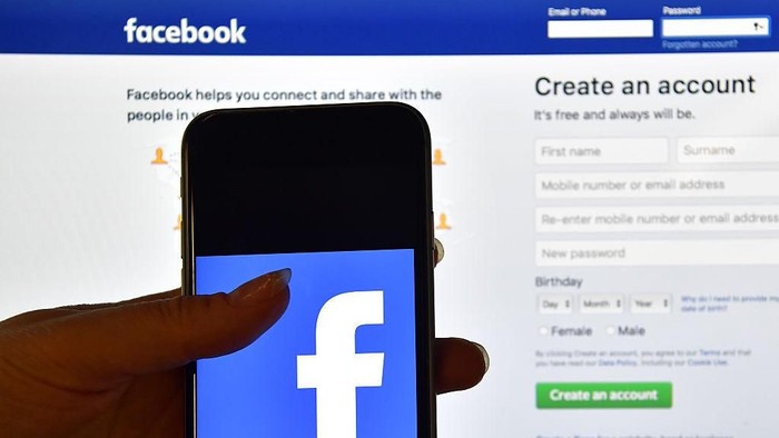
[[[405,106],[226,110],[185,141],[197,256],[415,248],[430,235],[428,132]]]

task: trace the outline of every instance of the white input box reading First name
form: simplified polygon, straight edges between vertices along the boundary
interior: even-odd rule
[[[668,162],[664,138],[543,138],[538,165],[644,165]]]

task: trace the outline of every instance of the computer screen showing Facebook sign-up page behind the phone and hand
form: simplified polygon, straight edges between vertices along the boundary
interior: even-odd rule
[[[4,1],[0,319],[180,285],[198,113],[403,101],[432,132],[437,335],[492,359],[440,436],[773,436],[777,13]]]

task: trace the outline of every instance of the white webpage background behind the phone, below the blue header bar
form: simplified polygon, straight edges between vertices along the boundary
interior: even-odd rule
[[[613,80],[757,78],[748,96],[540,97],[536,78]],[[536,199],[539,172],[718,170],[720,165],[535,165],[539,138],[779,136],[779,56],[643,54],[564,57],[120,57],[0,56],[0,318],[52,306],[114,301],[180,281],[180,209],[175,160],[185,121],[127,123],[127,112],[233,102],[137,102],[138,90],[438,90],[410,103],[426,117],[433,147],[434,207],[446,259],[436,269],[438,336],[482,342],[492,366],[475,389],[440,397],[442,437],[724,436],[779,430],[772,395],[779,359],[777,310],[723,315],[540,315],[536,276],[583,278],[592,293],[776,293],[776,266],[538,267],[536,241],[768,239],[776,231],[550,233],[535,231],[536,207],[694,206],[710,199]],[[333,101],[332,101],[333,102]],[[308,103],[308,102],[275,102]],[[249,106],[256,106],[250,103]],[[267,103],[264,103],[267,104]],[[536,121],[535,110],[684,108],[690,120]],[[369,139],[366,139],[369,141]],[[171,166],[151,166],[164,147]],[[779,170],[776,163],[730,170]],[[779,181],[777,181],[779,185]],[[262,198],[262,193],[256,193]],[[776,198],[717,203],[771,205]],[[738,263],[734,263],[738,265]],[[575,296],[580,291],[565,290]],[[674,302],[674,306],[678,303]],[[641,339],[602,335],[639,323]],[[591,326],[598,336],[555,339],[540,327]],[[724,368],[539,369],[535,351],[611,348],[750,348]],[[539,381],[671,381],[673,407],[654,410],[539,410]],[[707,435],[708,434],[708,435]]]

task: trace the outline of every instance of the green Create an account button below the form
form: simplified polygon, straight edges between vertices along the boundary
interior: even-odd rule
[[[668,409],[668,381],[536,384],[539,409]]]

